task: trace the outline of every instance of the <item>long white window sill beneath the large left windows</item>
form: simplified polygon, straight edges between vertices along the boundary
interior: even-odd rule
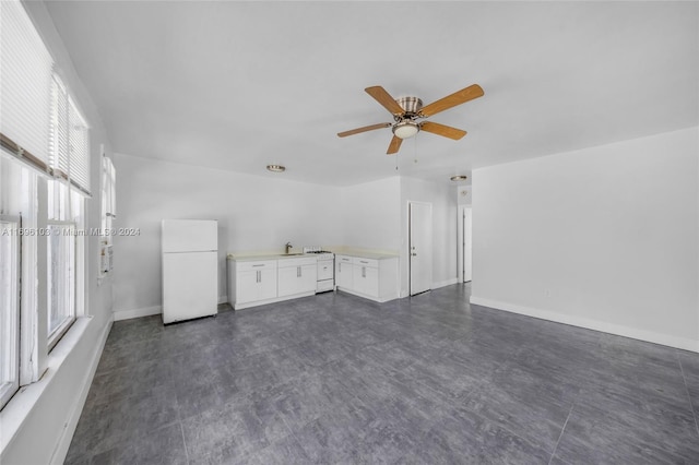
[[[0,429],[2,430],[2,434],[0,434],[0,454],[4,453],[22,429],[22,425],[51,384],[54,377],[85,334],[92,319],[92,317],[80,317],[75,320],[49,353],[48,366],[42,378],[35,383],[20,388],[20,391],[14,394],[0,412]]]

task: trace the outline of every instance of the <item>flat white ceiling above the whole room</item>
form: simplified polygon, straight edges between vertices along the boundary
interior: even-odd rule
[[[114,150],[308,182],[472,168],[699,124],[697,2],[104,2],[47,8]],[[391,116],[364,88],[427,105],[386,155]],[[287,166],[283,175],[264,170]]]

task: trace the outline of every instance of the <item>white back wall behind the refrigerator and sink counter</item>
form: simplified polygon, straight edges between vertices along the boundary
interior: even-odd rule
[[[116,156],[117,227],[140,228],[115,238],[117,318],[161,311],[161,220],[218,220],[218,296],[225,298],[226,254],[284,252],[342,241],[340,189]],[[225,301],[225,300],[224,300]],[[121,317],[120,317],[121,315]]]

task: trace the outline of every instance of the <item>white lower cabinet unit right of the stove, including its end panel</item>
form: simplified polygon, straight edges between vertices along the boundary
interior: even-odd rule
[[[337,289],[386,302],[399,297],[398,258],[335,255]]]

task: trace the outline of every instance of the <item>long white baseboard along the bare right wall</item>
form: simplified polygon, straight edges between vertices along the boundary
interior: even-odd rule
[[[645,341],[649,343],[660,344],[668,347],[675,347],[683,350],[699,353],[699,341],[688,339],[685,337],[676,337],[667,334],[655,333],[652,331],[639,330],[636,327],[629,327],[620,324],[608,323],[606,321],[568,315],[568,314],[553,312],[549,310],[523,307],[516,303],[502,302],[502,301],[486,299],[477,296],[471,296],[471,303],[476,306],[488,307],[496,310],[505,310],[512,313],[519,313],[526,317],[534,317],[542,320],[554,321],[556,323],[570,324],[571,326],[584,327],[587,330],[600,331],[603,333],[614,334],[617,336],[630,337],[632,339]]]

